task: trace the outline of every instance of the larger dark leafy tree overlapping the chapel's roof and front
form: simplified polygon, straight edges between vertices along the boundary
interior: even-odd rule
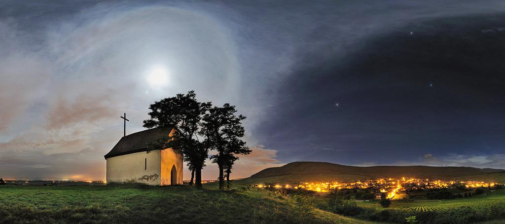
[[[183,154],[195,172],[195,186],[201,188],[201,169],[209,154],[209,147],[200,141],[197,134],[201,117],[209,110],[210,102],[196,100],[194,91],[177,94],[149,105],[150,119],[144,120],[144,127],[173,127],[176,131],[170,137],[161,138],[159,148],[173,148]]]

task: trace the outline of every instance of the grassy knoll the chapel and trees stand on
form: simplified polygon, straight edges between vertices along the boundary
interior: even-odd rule
[[[258,189],[0,186],[0,223],[373,223]]]

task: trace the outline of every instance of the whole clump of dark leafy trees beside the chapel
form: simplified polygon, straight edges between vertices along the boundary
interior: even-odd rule
[[[235,106],[225,103],[222,107],[212,102],[199,102],[194,91],[177,94],[156,101],[149,106],[150,119],[143,121],[145,128],[174,128],[171,136],[148,143],[149,150],[173,148],[183,155],[191,171],[189,185],[201,188],[201,170],[210,158],[219,167],[219,189],[230,187],[230,174],[237,155],[248,155],[251,150],[241,138],[244,136],[243,115],[236,115]],[[216,151],[209,157],[210,151]]]

